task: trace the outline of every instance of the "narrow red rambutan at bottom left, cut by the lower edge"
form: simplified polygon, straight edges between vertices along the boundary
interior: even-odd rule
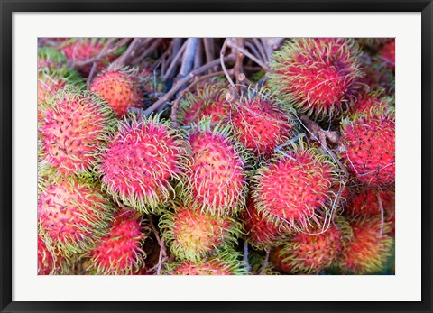
[[[144,227],[136,212],[127,209],[117,212],[108,234],[89,253],[90,272],[102,275],[142,274],[145,239]]]

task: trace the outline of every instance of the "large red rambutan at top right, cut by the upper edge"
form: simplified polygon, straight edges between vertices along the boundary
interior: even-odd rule
[[[271,60],[269,85],[300,113],[331,119],[355,101],[358,45],[345,38],[294,38]]]

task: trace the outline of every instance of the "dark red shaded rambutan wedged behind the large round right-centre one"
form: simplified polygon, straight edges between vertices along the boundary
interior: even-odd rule
[[[259,250],[281,243],[290,234],[283,225],[275,226],[263,216],[255,206],[252,198],[247,200],[247,207],[241,213],[244,232],[247,240]]]

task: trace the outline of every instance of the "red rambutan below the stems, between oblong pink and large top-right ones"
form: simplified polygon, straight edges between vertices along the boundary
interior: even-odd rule
[[[270,99],[244,99],[231,112],[235,136],[256,156],[269,158],[289,140],[294,127],[289,116]]]

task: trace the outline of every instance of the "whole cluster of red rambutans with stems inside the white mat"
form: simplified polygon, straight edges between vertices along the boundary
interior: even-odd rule
[[[392,273],[394,40],[188,41],[40,41],[38,273]]]

